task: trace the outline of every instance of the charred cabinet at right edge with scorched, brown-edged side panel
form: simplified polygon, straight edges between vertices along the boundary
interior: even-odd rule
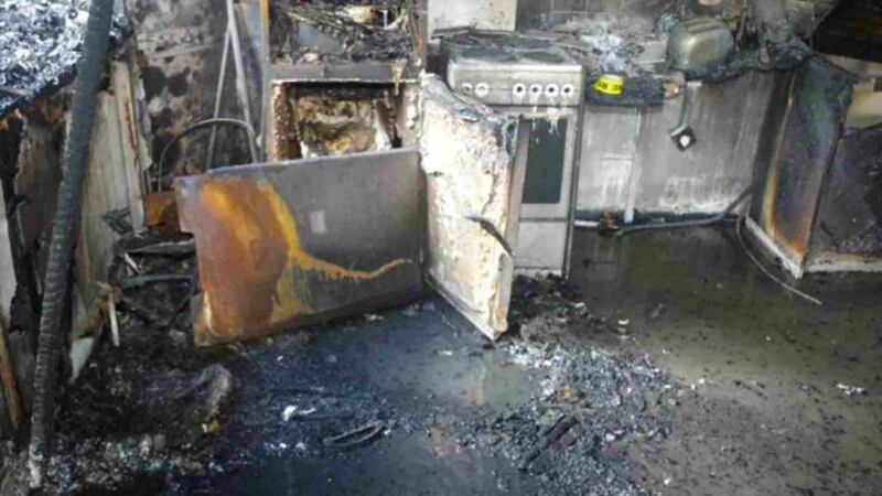
[[[797,278],[882,269],[882,136],[878,128],[846,128],[854,83],[826,60],[802,65],[761,154],[765,182],[747,226]]]

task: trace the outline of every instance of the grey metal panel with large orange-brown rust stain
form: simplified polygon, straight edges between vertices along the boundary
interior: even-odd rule
[[[198,345],[351,315],[421,292],[419,154],[217,169],[175,183],[195,237]]]

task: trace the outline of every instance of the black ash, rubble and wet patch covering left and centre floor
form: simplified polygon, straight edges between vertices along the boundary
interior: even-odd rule
[[[562,281],[517,288],[530,319],[589,315]],[[216,349],[168,321],[123,320],[67,388],[49,493],[645,494],[625,449],[668,433],[678,393],[644,358],[551,344],[551,324],[494,346],[440,299]]]

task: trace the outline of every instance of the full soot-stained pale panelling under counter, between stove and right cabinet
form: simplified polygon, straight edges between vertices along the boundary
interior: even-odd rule
[[[679,118],[679,98],[646,110],[588,106],[578,209],[682,215],[722,211],[751,183],[764,123],[786,105],[786,98],[776,97],[788,80],[785,73],[749,73],[690,88],[698,142],[685,152],[669,136]]]

